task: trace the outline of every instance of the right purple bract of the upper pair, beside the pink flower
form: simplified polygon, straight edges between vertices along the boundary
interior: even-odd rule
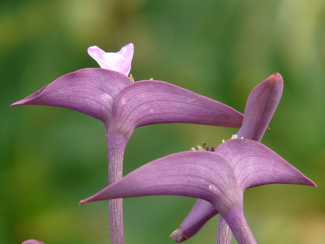
[[[192,123],[240,127],[243,115],[227,105],[163,81],[143,80],[116,97],[109,133],[128,139],[137,127],[159,123]]]

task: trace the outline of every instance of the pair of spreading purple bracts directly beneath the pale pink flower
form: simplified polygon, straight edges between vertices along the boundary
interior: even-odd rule
[[[178,122],[240,127],[243,119],[227,105],[186,89],[162,81],[134,83],[121,73],[100,68],[63,75],[10,106],[16,105],[70,108],[103,121],[107,129],[111,123],[110,132],[120,131],[126,140],[143,125]]]

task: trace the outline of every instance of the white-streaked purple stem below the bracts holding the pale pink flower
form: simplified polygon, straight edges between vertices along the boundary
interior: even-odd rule
[[[118,134],[107,134],[108,179],[112,184],[122,178],[123,155],[126,141]],[[123,244],[123,202],[122,198],[110,199],[110,242]]]

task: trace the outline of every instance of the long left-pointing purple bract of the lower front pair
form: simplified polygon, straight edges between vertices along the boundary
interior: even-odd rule
[[[215,202],[217,196],[220,203],[220,199],[232,194],[232,199],[227,200],[230,204],[241,201],[235,185],[232,169],[222,156],[210,151],[187,151],[147,163],[82,203],[149,195],[179,195],[210,202]]]

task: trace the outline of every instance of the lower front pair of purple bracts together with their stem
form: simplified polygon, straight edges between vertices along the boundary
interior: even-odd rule
[[[80,203],[148,195],[201,198],[222,215],[239,244],[256,243],[242,213],[245,189],[269,183],[316,186],[259,142],[234,139],[219,147],[214,152],[189,151],[156,159]],[[254,168],[259,177],[252,175]]]

